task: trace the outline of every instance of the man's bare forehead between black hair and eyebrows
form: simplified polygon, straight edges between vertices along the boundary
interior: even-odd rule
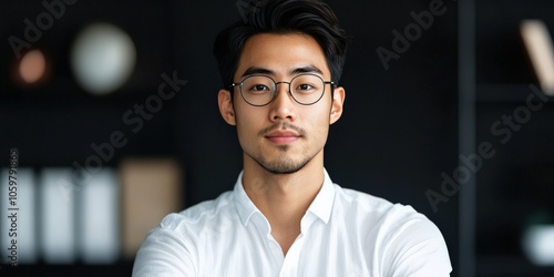
[[[298,69],[314,68],[314,72],[329,78],[327,60],[319,43],[301,33],[259,33],[250,37],[240,53],[235,80],[252,69],[261,69],[266,74],[290,76]]]

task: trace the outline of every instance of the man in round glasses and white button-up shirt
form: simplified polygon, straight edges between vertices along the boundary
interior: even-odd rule
[[[134,276],[448,276],[440,230],[410,206],[334,184],[324,168],[347,37],[316,0],[267,1],[214,53],[244,171],[233,192],[168,215]]]

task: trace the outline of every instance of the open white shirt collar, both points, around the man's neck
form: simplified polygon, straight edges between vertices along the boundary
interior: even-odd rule
[[[248,195],[246,195],[246,191],[243,186],[243,173],[244,172],[240,172],[240,174],[238,175],[238,179],[235,183],[233,194],[235,195],[238,216],[240,217],[243,224],[247,225],[254,214],[261,214],[261,212],[259,212],[259,209],[256,207],[256,205],[254,205]],[[332,211],[335,186],[325,168],[324,175],[324,185],[321,186],[321,189],[319,189],[319,193],[316,195],[316,198],[311,202],[307,213],[312,213],[327,224]]]

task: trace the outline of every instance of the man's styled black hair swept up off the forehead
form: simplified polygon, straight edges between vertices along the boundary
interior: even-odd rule
[[[239,10],[242,20],[222,30],[214,42],[224,88],[234,81],[246,41],[258,33],[311,35],[324,51],[332,81],[339,81],[349,38],[328,4],[319,0],[249,0],[248,7],[238,8],[247,9]]]

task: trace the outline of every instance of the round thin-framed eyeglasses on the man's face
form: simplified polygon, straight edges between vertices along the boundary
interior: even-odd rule
[[[230,86],[239,86],[240,95],[246,103],[254,106],[264,106],[277,96],[277,84],[288,84],[288,92],[293,99],[301,105],[311,105],[318,102],[325,94],[325,85],[336,85],[332,81],[324,81],[316,74],[305,73],[293,78],[290,82],[275,82],[266,75],[250,75],[239,83]]]

